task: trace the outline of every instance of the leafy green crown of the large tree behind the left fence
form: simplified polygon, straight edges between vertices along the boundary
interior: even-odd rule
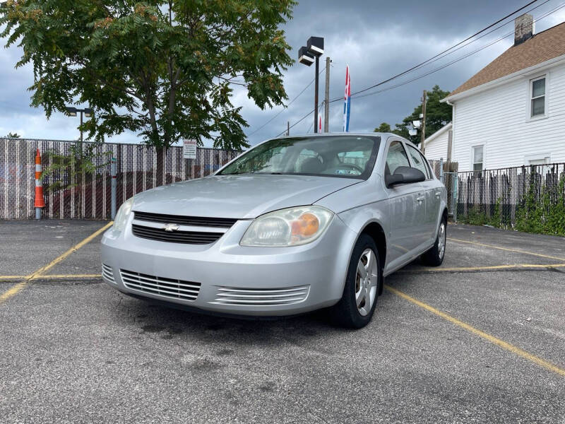
[[[166,148],[182,138],[246,146],[247,126],[232,102],[244,86],[261,108],[287,98],[292,64],[280,25],[294,0],[8,0],[0,37],[32,64],[32,105],[50,117],[86,104],[83,124],[103,141],[136,131]]]

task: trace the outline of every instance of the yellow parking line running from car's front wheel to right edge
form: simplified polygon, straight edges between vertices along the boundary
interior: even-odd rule
[[[536,355],[532,355],[531,353],[528,353],[528,352],[524,351],[523,349],[518,348],[517,346],[513,346],[512,344],[507,343],[506,341],[503,341],[500,338],[496,338],[494,336],[491,336],[490,334],[485,333],[484,331],[481,331],[480,329],[475,329],[474,326],[470,326],[469,324],[467,324],[463,321],[460,321],[457,318],[451,317],[451,315],[448,315],[445,312],[441,312],[440,310],[436,310],[436,308],[428,305],[427,303],[420,302],[420,300],[412,298],[412,296],[409,296],[406,293],[403,293],[396,288],[392,288],[389,285],[385,285],[385,288],[386,288],[386,290],[389,290],[392,293],[400,296],[400,298],[408,300],[408,302],[411,302],[414,305],[422,307],[424,310],[427,310],[428,312],[432,312],[432,314],[436,314],[437,316],[439,316],[443,319],[446,319],[448,322],[451,322],[451,324],[455,324],[456,326],[460,326],[461,328],[463,328],[467,331],[470,331],[472,334],[475,334],[476,336],[482,337],[485,340],[487,340],[491,343],[494,343],[496,346],[499,346],[503,349],[506,349],[506,351],[510,351],[510,352],[514,353],[515,355],[521,356],[522,358],[529,360],[532,363],[540,365],[540,367],[544,367],[546,370],[555,372],[555,373],[561,375],[561,377],[565,377],[565,370],[563,368],[560,368],[557,365],[549,363],[549,362],[547,362],[547,360],[543,360],[542,358],[539,358]]]

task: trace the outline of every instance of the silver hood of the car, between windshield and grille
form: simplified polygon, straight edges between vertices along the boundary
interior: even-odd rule
[[[133,211],[210,218],[256,218],[313,204],[360,179],[307,175],[218,175],[136,194]]]

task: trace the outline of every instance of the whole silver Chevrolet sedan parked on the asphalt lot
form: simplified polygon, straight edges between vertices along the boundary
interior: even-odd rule
[[[383,278],[446,246],[446,189],[394,134],[265,141],[202,179],[137,194],[102,238],[102,276],[134,297],[220,314],[331,308],[366,325]]]

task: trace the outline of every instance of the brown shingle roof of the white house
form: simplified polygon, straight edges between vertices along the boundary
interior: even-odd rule
[[[535,34],[530,40],[526,40],[517,46],[510,47],[475,73],[468,81],[453,90],[448,97],[564,54],[565,22]]]

